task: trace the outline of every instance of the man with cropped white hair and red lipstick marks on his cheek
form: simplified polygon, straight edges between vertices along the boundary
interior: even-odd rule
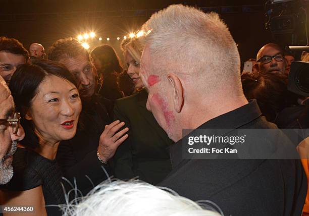
[[[192,200],[209,199],[225,215],[300,215],[306,178],[299,160],[183,158],[183,129],[277,128],[245,98],[237,46],[219,16],[173,5],[153,14],[142,30],[147,109],[176,142],[173,170],[159,185]]]

